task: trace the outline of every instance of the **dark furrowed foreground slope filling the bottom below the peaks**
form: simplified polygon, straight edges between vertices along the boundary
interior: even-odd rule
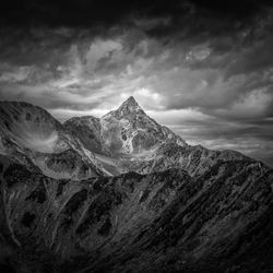
[[[217,162],[193,177],[168,169],[72,181],[1,156],[0,170],[5,270],[270,272],[273,266],[273,171],[261,163]]]

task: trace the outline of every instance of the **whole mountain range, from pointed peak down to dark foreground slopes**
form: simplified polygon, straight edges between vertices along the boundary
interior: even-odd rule
[[[1,272],[271,272],[273,170],[133,97],[60,123],[0,103]]]

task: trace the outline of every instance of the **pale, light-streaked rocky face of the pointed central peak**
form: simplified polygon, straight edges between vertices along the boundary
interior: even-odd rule
[[[133,97],[129,97],[117,110],[105,115],[102,123],[103,134],[116,154],[139,155],[162,143],[187,145],[180,136],[150,118]],[[116,135],[115,143],[109,129]]]

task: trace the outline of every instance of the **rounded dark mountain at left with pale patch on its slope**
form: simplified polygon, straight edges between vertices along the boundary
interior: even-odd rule
[[[0,103],[0,153],[55,178],[104,174],[80,140],[49,112],[27,103]]]

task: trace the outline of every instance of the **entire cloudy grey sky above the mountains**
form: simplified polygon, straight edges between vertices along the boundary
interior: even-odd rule
[[[0,100],[64,121],[129,96],[189,144],[273,166],[272,1],[1,3]]]

